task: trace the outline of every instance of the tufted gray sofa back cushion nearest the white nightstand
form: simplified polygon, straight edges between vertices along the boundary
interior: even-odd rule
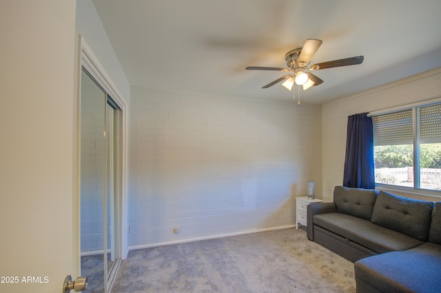
[[[377,194],[378,192],[372,189],[336,186],[334,203],[337,206],[337,212],[370,220]]]

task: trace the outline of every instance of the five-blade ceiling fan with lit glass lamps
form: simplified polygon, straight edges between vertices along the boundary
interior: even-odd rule
[[[347,65],[357,65],[363,62],[365,57],[357,56],[345,59],[338,59],[334,61],[327,61],[322,63],[316,63],[307,68],[309,62],[311,62],[312,57],[316,54],[318,48],[322,44],[322,41],[317,39],[307,39],[305,44],[301,48],[297,48],[287,52],[285,55],[285,61],[287,62],[287,68],[280,67],[259,67],[259,66],[248,66],[246,70],[275,70],[282,72],[289,72],[283,77],[264,85],[262,88],[269,88],[280,81],[284,81],[282,85],[291,90],[294,83],[297,85],[302,85],[303,90],[311,88],[312,85],[316,86],[323,83],[323,80],[317,77],[310,71],[322,70],[327,68],[342,67]]]

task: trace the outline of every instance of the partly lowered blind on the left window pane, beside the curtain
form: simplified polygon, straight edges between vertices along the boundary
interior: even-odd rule
[[[404,145],[413,143],[412,110],[372,117],[374,145]]]

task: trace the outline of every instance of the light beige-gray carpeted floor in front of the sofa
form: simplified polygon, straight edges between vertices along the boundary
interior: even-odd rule
[[[286,229],[133,250],[117,292],[355,292],[355,280],[353,263]]]

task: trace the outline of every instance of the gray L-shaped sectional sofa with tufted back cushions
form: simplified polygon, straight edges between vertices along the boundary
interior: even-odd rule
[[[307,237],[354,263],[357,293],[441,292],[441,202],[336,186]]]

